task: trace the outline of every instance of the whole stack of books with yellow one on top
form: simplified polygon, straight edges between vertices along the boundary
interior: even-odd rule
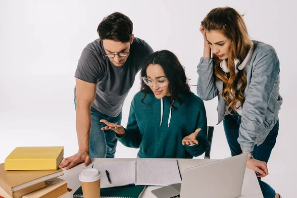
[[[0,164],[0,198],[70,198],[63,147],[18,147]]]

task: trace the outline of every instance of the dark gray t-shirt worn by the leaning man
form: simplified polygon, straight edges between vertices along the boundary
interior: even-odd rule
[[[139,38],[134,38],[130,54],[123,66],[117,67],[105,57],[100,39],[83,49],[78,61],[75,77],[97,84],[96,99],[91,107],[105,115],[116,117],[120,114],[124,100],[133,86],[145,58],[153,53],[151,47]],[[74,88],[76,98],[76,88]]]

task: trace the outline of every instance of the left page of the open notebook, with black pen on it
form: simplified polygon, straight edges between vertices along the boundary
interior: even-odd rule
[[[101,173],[100,188],[126,186],[135,183],[135,162],[123,162],[115,164],[94,165]],[[111,184],[109,184],[105,170],[109,172]]]

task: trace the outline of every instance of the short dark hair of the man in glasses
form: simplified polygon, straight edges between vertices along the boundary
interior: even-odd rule
[[[132,21],[128,16],[120,12],[114,12],[106,16],[97,29],[101,40],[108,39],[122,43],[131,41],[132,31]]]

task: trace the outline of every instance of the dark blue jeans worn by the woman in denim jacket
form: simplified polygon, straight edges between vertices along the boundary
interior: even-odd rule
[[[234,111],[232,111],[231,113],[233,115],[229,114],[225,116],[223,120],[223,124],[224,124],[224,130],[225,130],[227,142],[231,150],[231,155],[234,156],[242,153],[240,144],[237,141],[239,137],[239,125],[241,124],[241,116]],[[255,159],[260,161],[265,161],[266,163],[268,162],[272,148],[276,143],[278,130],[279,130],[279,121],[277,121],[277,123],[274,125],[272,130],[269,132],[265,141],[259,146],[257,145],[254,146],[253,157]],[[267,183],[261,181],[260,177],[257,177],[257,179],[259,181],[263,197],[274,198],[275,191],[273,190],[273,188],[271,188],[271,186],[269,186]]]

